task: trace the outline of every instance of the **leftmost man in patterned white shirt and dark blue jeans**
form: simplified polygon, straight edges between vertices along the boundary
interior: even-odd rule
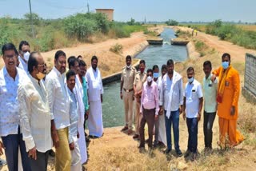
[[[22,156],[23,170],[30,171],[30,161],[19,126],[18,85],[28,81],[23,70],[16,67],[18,51],[12,43],[2,46],[5,66],[0,70],[0,149],[5,148],[8,169],[18,171],[18,149]],[[4,145],[4,146],[2,146]]]

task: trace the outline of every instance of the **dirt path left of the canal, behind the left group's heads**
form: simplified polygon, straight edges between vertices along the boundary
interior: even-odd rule
[[[115,54],[110,51],[111,46],[115,44],[122,45],[122,54]],[[146,46],[146,36],[142,32],[131,34],[130,38],[110,39],[105,42],[98,42],[94,44],[81,44],[76,47],[62,48],[67,57],[71,55],[82,55],[86,64],[90,66],[90,58],[93,55],[98,57],[98,67],[102,72],[102,77],[114,74],[122,69],[125,65],[125,58],[127,54],[134,55]],[[54,65],[54,54],[57,50],[51,50],[42,53],[46,58],[47,65],[52,68]],[[134,61],[135,62],[135,61]]]

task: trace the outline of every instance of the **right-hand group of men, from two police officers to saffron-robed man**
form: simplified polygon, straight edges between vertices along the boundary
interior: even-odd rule
[[[182,114],[189,134],[184,156],[191,156],[192,160],[195,160],[198,154],[198,121],[201,120],[202,109],[206,151],[212,149],[212,128],[216,113],[219,123],[218,145],[226,149],[243,141],[244,137],[236,129],[240,93],[239,74],[230,65],[230,54],[222,55],[222,66],[217,70],[212,71],[210,61],[203,63],[205,77],[202,85],[194,78],[194,68],[189,67],[186,70],[187,83],[184,89],[182,75],[174,70],[173,60],[168,60],[166,65],[162,66],[161,76],[158,66],[153,66],[153,69],[146,72],[145,68],[146,62],[141,60],[139,71],[136,72],[131,66],[131,57],[127,56],[120,86],[120,97],[124,101],[126,115],[126,125],[122,131],[127,131],[128,135],[133,134],[134,115],[134,138],[140,141],[138,148],[145,149],[144,127],[147,123],[149,148],[163,144],[167,147],[165,153],[170,153],[172,125],[174,149],[177,156],[181,157],[179,116]]]

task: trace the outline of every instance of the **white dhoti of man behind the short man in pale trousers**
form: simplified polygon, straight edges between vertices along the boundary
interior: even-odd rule
[[[85,130],[81,122],[78,122],[78,132],[80,136],[78,138],[78,145],[79,145],[80,154],[81,154],[81,163],[84,164],[87,161],[87,149],[86,149]]]

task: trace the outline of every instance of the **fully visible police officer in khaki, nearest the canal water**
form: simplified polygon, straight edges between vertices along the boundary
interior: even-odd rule
[[[134,109],[134,78],[136,69],[131,66],[130,55],[126,56],[126,66],[122,68],[120,97],[125,105],[126,113],[126,125],[122,128],[122,131],[128,129],[128,135],[130,135],[133,129],[133,109]]]

